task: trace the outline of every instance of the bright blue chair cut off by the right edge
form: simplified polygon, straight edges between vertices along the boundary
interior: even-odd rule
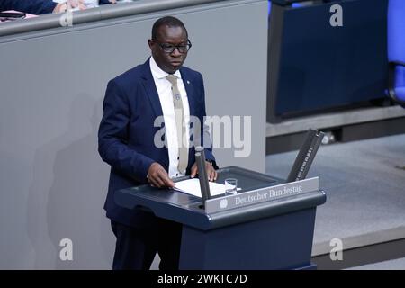
[[[388,3],[388,94],[405,108],[405,0]]]

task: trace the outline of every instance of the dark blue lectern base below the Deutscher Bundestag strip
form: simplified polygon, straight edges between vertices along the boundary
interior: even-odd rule
[[[311,247],[316,208],[219,229],[183,227],[183,270],[314,269]]]

